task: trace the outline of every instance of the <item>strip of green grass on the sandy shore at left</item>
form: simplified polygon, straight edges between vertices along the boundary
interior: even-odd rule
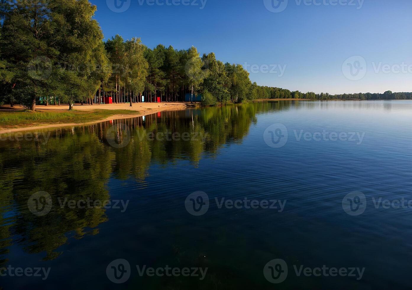
[[[67,112],[30,112],[1,111],[0,129],[13,129],[28,126],[42,126],[47,124],[81,124],[99,121],[114,115],[137,115],[139,112],[131,110],[93,110]]]

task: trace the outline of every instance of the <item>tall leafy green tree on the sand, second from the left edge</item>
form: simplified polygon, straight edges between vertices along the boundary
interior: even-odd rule
[[[73,109],[75,101],[84,101],[96,93],[107,71],[100,70],[107,60],[103,53],[103,33],[93,19],[96,6],[88,0],[51,0],[54,30],[53,47],[59,51],[63,100]],[[96,89],[96,90],[95,90]]]

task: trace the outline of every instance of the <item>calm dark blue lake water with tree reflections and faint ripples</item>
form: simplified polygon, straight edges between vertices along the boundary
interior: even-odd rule
[[[290,101],[3,136],[0,267],[49,272],[2,271],[0,286],[410,289],[411,129],[410,101]],[[136,265],[207,272],[140,276]],[[298,276],[301,265],[365,269]]]

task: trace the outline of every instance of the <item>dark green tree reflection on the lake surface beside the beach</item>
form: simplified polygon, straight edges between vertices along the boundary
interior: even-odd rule
[[[0,264],[7,262],[13,244],[53,260],[70,237],[96,235],[98,225],[108,220],[105,208],[70,209],[59,206],[61,200],[108,200],[110,178],[145,182],[152,164],[167,167],[188,160],[199,166],[201,158],[216,157],[222,145],[240,143],[257,122],[256,114],[290,104],[166,111],[48,130],[47,142],[42,135],[35,141],[0,142]],[[33,215],[27,206],[39,191],[52,196],[54,206],[45,216]]]

